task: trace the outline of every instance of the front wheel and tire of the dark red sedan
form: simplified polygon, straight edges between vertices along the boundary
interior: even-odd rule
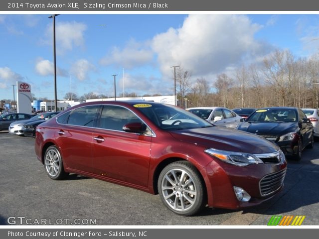
[[[197,169],[187,161],[168,164],[158,181],[160,199],[175,214],[192,216],[206,205],[206,189]]]

